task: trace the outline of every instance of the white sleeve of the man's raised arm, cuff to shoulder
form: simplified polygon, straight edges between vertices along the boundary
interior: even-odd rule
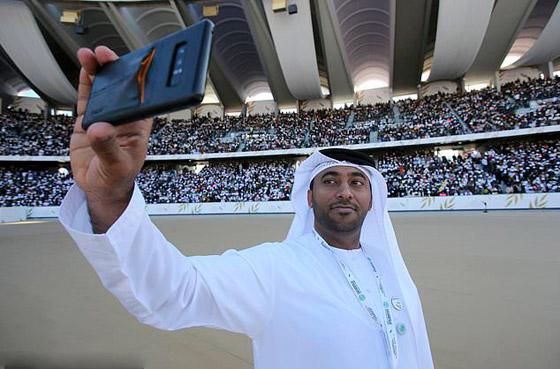
[[[175,330],[209,326],[254,337],[272,315],[275,244],[185,257],[145,211],[138,187],[105,234],[93,234],[83,191],[74,185],[60,222],[102,284],[140,322]]]

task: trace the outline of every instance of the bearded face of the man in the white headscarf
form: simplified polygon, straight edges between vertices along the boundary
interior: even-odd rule
[[[334,232],[352,232],[361,228],[371,209],[371,185],[361,170],[334,166],[315,176],[307,201],[319,226]]]

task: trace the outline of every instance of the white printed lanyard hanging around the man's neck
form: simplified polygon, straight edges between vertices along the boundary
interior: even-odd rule
[[[375,314],[375,311],[372,308],[374,299],[369,296],[366,290],[360,288],[360,286],[358,285],[358,280],[356,279],[356,277],[354,277],[354,273],[352,273],[352,271],[346,265],[344,265],[342,261],[340,261],[335,252],[331,249],[331,246],[329,246],[329,244],[327,244],[315,230],[313,230],[313,236],[321,244],[321,246],[323,246],[323,248],[325,248],[334,256],[334,258],[338,262],[338,265],[340,266],[340,269],[342,270],[342,273],[344,274],[344,277],[346,278],[348,284],[352,288],[352,291],[354,291],[354,294],[358,298],[358,301],[383,332],[387,358],[389,359],[391,367],[395,369],[397,367],[397,360],[399,358],[397,334],[395,332],[394,326],[395,323],[393,321],[393,315],[391,314],[391,304],[389,303],[389,298],[385,293],[385,288],[383,287],[383,283],[381,282],[381,278],[379,277],[377,268],[375,268],[375,265],[373,264],[373,260],[371,260],[371,258],[367,255],[364,248],[362,247],[362,252],[368,260],[369,265],[371,266],[373,274],[375,275],[375,281],[377,282],[377,288],[379,289],[381,305],[383,308],[383,317],[381,319]]]

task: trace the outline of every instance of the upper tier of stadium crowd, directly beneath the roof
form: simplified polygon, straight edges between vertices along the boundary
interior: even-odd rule
[[[560,123],[560,78],[436,94],[393,104],[358,105],[299,114],[156,119],[148,153],[196,154],[350,145],[377,141],[540,127]],[[540,100],[538,107],[524,108]],[[0,155],[68,155],[72,119],[7,111],[0,114]]]

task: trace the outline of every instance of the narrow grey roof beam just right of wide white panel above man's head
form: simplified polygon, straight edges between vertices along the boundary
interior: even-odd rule
[[[332,1],[313,0],[333,102],[354,100],[354,81]]]

